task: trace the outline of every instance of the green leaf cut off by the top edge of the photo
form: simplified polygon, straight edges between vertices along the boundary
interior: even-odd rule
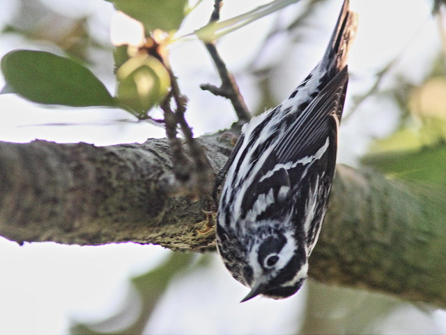
[[[185,17],[187,0],[107,0],[118,10],[138,20],[147,31],[176,30]]]

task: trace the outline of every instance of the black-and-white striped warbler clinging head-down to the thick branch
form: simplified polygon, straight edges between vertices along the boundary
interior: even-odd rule
[[[226,268],[256,295],[299,290],[332,185],[356,15],[344,1],[321,61],[277,107],[243,126],[217,214]]]

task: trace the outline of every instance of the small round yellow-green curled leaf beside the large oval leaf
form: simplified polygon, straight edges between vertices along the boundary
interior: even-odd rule
[[[170,77],[155,57],[138,55],[126,61],[116,71],[118,105],[141,116],[167,96]]]

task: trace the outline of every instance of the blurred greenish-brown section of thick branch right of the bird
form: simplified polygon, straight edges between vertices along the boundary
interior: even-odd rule
[[[337,166],[309,274],[446,307],[444,191]]]

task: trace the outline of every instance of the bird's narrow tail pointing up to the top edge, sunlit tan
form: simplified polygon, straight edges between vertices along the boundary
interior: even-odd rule
[[[341,13],[322,59],[330,72],[339,72],[347,65],[348,50],[355,38],[357,14],[350,10],[349,0],[344,0]]]

